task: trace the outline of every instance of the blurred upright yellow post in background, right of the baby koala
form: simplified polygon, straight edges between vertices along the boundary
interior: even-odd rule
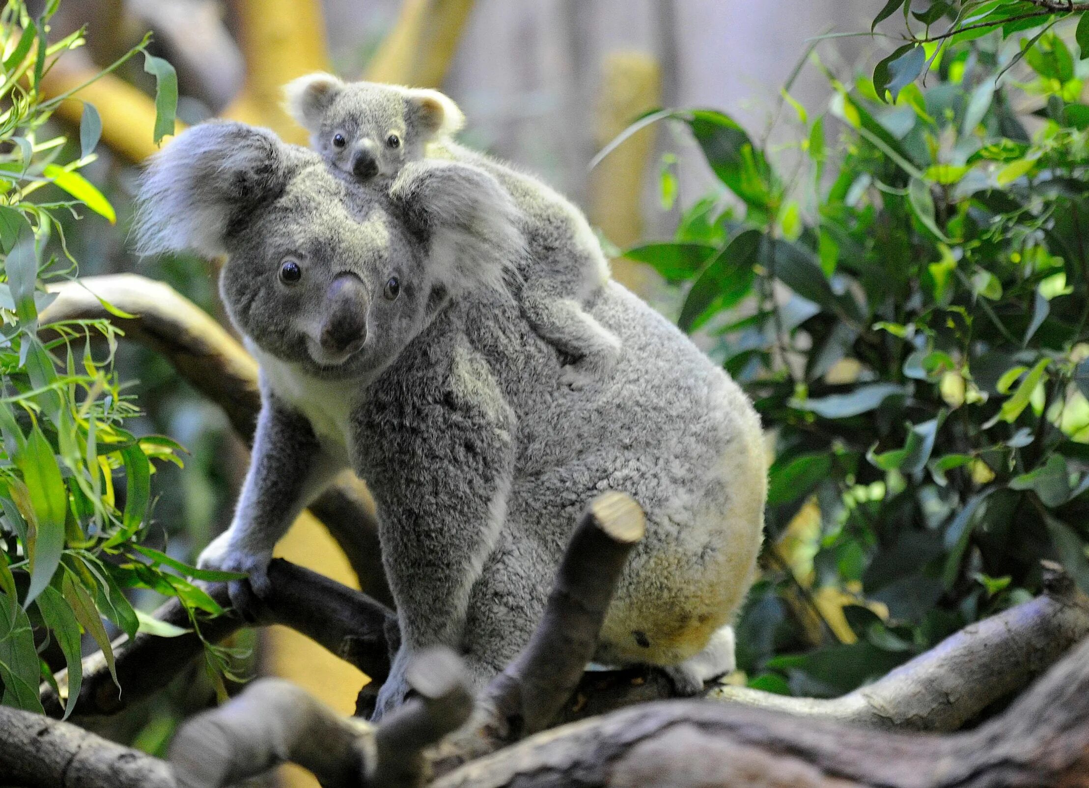
[[[608,53],[594,130],[598,149],[661,100],[661,67],[653,56],[631,50]],[[643,234],[643,178],[653,151],[654,128],[650,126],[624,140],[590,173],[590,221],[622,248]],[[631,260],[613,260],[612,270],[617,281],[636,293],[645,294],[654,282],[648,267]]]

